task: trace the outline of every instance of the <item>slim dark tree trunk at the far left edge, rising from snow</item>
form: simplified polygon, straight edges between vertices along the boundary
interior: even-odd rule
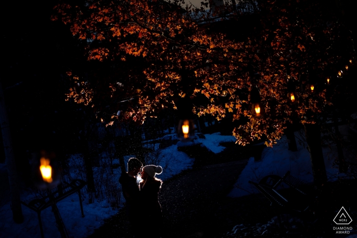
[[[0,82],[0,126],[3,134],[3,143],[5,150],[5,162],[8,168],[10,191],[11,191],[11,207],[12,218],[16,223],[23,222],[22,208],[20,202],[20,188],[16,171],[15,156],[11,142],[10,126],[8,114],[5,108],[4,93]]]

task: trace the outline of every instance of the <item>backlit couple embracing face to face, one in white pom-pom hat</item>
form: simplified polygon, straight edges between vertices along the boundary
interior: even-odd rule
[[[158,194],[162,181],[155,177],[162,173],[162,167],[147,165],[137,158],[127,162],[127,173],[121,174],[119,182],[126,200],[126,213],[132,226],[134,237],[150,234],[149,237],[160,237],[162,214]],[[138,173],[141,181],[137,183]]]

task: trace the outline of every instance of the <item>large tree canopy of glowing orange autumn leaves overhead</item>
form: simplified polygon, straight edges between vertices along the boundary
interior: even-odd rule
[[[111,77],[104,86],[69,75],[77,85],[68,97],[96,107],[100,90],[95,88],[107,87],[105,102],[112,112],[118,101],[138,98],[120,118],[111,117],[142,123],[189,97],[198,116],[220,120],[230,113],[241,120],[233,135],[242,145],[266,138],[272,146],[293,119],[319,123],[334,111],[335,94],[348,89],[345,78],[355,63],[348,31],[331,6],[319,1],[258,3],[227,4],[214,12],[180,1],[61,3],[53,19],[87,42],[88,60],[121,62],[120,80]],[[258,19],[247,22],[253,31],[235,32],[252,17]],[[224,25],[230,31],[223,33]],[[334,83],[338,91],[327,87]],[[257,103],[258,116],[252,109]],[[321,156],[318,160],[321,164]]]

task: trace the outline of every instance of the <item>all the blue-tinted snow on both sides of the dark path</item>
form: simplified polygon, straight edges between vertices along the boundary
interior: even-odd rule
[[[214,153],[221,152],[224,147],[219,143],[221,142],[235,142],[233,136],[221,136],[220,133],[215,133],[211,135],[204,135],[205,139],[197,138],[193,142],[182,143],[177,142],[176,144],[170,145],[164,149],[161,149],[158,153],[160,157],[160,163],[164,168],[162,174],[158,175],[158,178],[166,180],[173,175],[179,174],[181,171],[191,168],[193,165],[193,158],[190,158],[186,153],[177,150],[177,147],[187,146],[190,143],[197,144],[202,143],[208,149]],[[296,133],[296,137],[299,137],[299,134]],[[175,134],[166,135],[161,139],[176,139]],[[262,177],[268,174],[277,174],[283,176],[288,170],[291,171],[291,174],[295,177],[298,177],[304,181],[312,182],[312,169],[310,162],[310,155],[306,145],[303,143],[303,138],[300,138],[297,141],[298,151],[291,152],[288,150],[288,145],[286,138],[283,137],[282,140],[278,142],[273,148],[265,148],[262,154],[262,160],[259,162],[254,162],[254,158],[250,158],[247,166],[242,171],[239,176],[235,188],[231,191],[228,196],[239,197],[244,196],[250,193],[258,193],[257,190],[253,189],[248,180],[259,181]],[[158,149],[158,144],[148,144],[151,148]],[[330,151],[329,148],[323,148],[325,164],[327,174],[330,179],[336,179],[341,174],[338,174],[338,170],[333,168],[333,161],[337,156],[337,152],[333,149]],[[105,157],[105,154],[102,154],[101,157]],[[126,160],[130,156],[125,157]],[[81,162],[79,155],[73,155],[71,165],[71,177],[72,178],[81,178],[80,170]],[[106,160],[103,160],[104,162]],[[101,161],[100,163],[104,163]],[[108,161],[108,158],[107,158]],[[107,163],[107,162],[105,162]],[[118,163],[117,160],[113,161],[113,164]],[[99,176],[101,170],[98,167],[94,168],[94,175]],[[4,164],[0,164],[0,174],[6,172],[6,167]],[[102,171],[103,172],[103,171]],[[120,176],[120,168],[113,170],[113,175],[109,176],[108,179],[111,181],[117,182]],[[119,184],[117,186],[120,186]],[[26,198],[26,194],[22,195],[22,199]],[[88,203],[88,196],[84,194],[83,209],[85,217],[81,217],[81,210],[79,204],[79,198],[77,194],[73,194],[70,197],[58,202],[58,208],[60,214],[63,218],[67,231],[70,237],[86,237],[91,234],[95,228],[98,228],[101,224],[104,223],[104,219],[109,218],[110,216],[118,212],[117,209],[113,209],[110,204],[106,201],[97,201],[94,203]],[[124,199],[121,197],[121,202]],[[120,208],[119,208],[120,209]],[[40,229],[38,225],[37,214],[31,209],[22,206],[24,222],[22,224],[16,224],[12,220],[12,213],[10,209],[10,204],[1,204],[0,201],[0,237],[41,237]],[[41,213],[44,236],[47,237],[60,237],[60,233],[57,230],[55,218],[50,208],[46,208]]]

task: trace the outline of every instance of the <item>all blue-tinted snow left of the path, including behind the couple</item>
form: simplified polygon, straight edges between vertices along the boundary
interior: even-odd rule
[[[235,141],[233,136],[221,136],[219,133],[205,135],[205,137],[206,139],[197,139],[194,143],[202,143],[215,153],[218,153],[224,149],[224,147],[219,145],[220,142]],[[176,139],[176,135],[166,135],[162,139],[165,138]],[[159,156],[161,160],[159,165],[164,168],[164,171],[162,174],[157,176],[158,178],[161,178],[165,181],[173,175],[179,174],[181,171],[191,168],[193,165],[193,158],[190,158],[185,152],[177,150],[177,146],[182,146],[180,143],[181,142],[160,150]],[[158,148],[156,145],[154,145],[154,147]],[[104,159],[101,160],[100,163],[105,163],[106,161],[108,162],[108,158],[105,156],[105,154],[101,155],[101,157]],[[128,160],[129,157],[130,156],[126,156],[126,160]],[[71,167],[70,174],[73,179],[82,178],[81,170],[84,168],[81,166],[81,160],[82,158],[80,155],[73,155],[69,161],[69,165]],[[113,164],[116,163],[118,163],[118,161],[114,160]],[[93,172],[94,177],[103,174],[103,171],[98,167],[94,167]],[[118,167],[117,169],[114,169],[113,172],[114,174],[111,175],[112,177],[107,179],[110,179],[110,181],[117,181],[120,177],[120,168]],[[6,166],[4,164],[0,164],[0,173],[6,173]],[[120,184],[118,184],[118,186],[120,186]],[[26,199],[27,196],[29,195],[24,192],[21,196],[21,199]],[[105,200],[95,200],[94,203],[89,204],[88,195],[84,194],[83,197],[85,198],[83,202],[85,215],[84,218],[81,216],[80,203],[77,194],[73,194],[57,203],[61,217],[70,237],[81,238],[88,236],[94,231],[95,228],[98,228],[101,224],[104,223],[104,219],[109,218],[118,212],[117,209],[113,209]],[[121,197],[121,201],[124,201],[123,197]],[[35,211],[22,206],[22,212],[24,216],[24,222],[22,224],[16,224],[12,220],[12,212],[9,202],[3,205],[0,204],[0,237],[41,237],[38,218]],[[60,233],[56,227],[55,217],[51,211],[51,208],[46,208],[42,211],[41,219],[43,224],[44,237],[59,238]]]

